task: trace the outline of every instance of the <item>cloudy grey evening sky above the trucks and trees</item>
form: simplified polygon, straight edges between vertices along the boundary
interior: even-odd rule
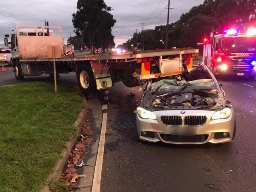
[[[44,25],[41,20],[50,20],[50,25],[61,26],[63,38],[73,31],[72,13],[76,12],[77,0],[0,0],[0,41],[5,33],[10,33],[15,24]],[[168,0],[105,0],[112,7],[111,13],[117,20],[113,35],[115,43],[124,43],[127,38],[141,31],[142,21],[145,29],[156,25],[166,25]],[[204,0],[170,0],[170,22],[178,20],[182,13],[191,7],[202,4]],[[15,15],[14,15],[15,14]],[[74,33],[71,33],[73,36]]]

